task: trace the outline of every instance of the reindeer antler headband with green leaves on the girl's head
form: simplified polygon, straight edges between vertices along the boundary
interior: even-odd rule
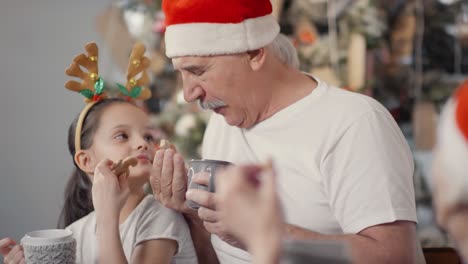
[[[81,132],[83,122],[89,110],[101,99],[107,97],[104,81],[98,72],[98,47],[96,43],[88,43],[85,46],[87,54],[80,54],[73,59],[70,67],[65,71],[68,76],[81,79],[77,81],[68,81],[65,88],[78,92],[85,97],[86,106],[81,110],[76,123],[75,130],[75,152],[81,150]],[[127,83],[125,86],[117,84],[120,97],[127,100],[146,100],[151,97],[151,91],[144,85],[149,83],[146,69],[150,65],[150,60],[144,56],[145,46],[142,43],[136,43],[133,46],[127,69]],[[84,72],[82,68],[86,69]]]

